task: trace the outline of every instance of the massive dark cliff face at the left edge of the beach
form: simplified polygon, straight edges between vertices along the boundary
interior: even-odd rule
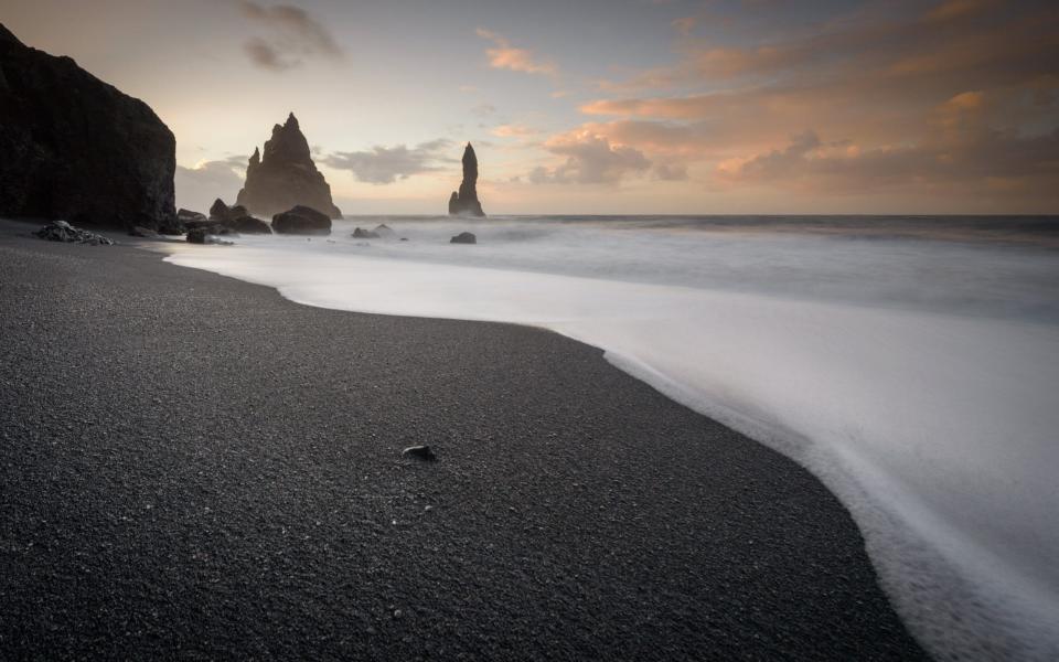
[[[0,216],[171,225],[175,149],[147,104],[0,24]]]

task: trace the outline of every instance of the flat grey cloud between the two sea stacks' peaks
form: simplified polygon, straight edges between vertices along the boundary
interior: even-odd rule
[[[421,142],[414,148],[375,146],[366,151],[335,152],[323,162],[339,170],[349,170],[359,181],[372,184],[392,184],[414,174],[441,170],[457,161],[447,157],[452,141],[446,139]]]

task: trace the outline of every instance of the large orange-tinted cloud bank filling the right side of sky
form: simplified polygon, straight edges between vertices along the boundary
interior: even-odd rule
[[[607,121],[579,130],[655,162],[698,163],[728,188],[1059,197],[1041,184],[1059,177],[1048,156],[1059,147],[1059,12],[1045,3],[951,0],[785,41],[682,40],[672,66],[601,84],[621,94],[584,103]],[[629,96],[650,87],[672,92]]]

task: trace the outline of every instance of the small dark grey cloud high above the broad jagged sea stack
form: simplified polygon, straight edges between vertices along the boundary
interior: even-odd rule
[[[289,4],[263,7],[240,0],[239,10],[268,32],[268,39],[254,36],[243,44],[256,66],[282,72],[300,66],[306,58],[342,60],[345,56],[328,29],[303,9]]]

